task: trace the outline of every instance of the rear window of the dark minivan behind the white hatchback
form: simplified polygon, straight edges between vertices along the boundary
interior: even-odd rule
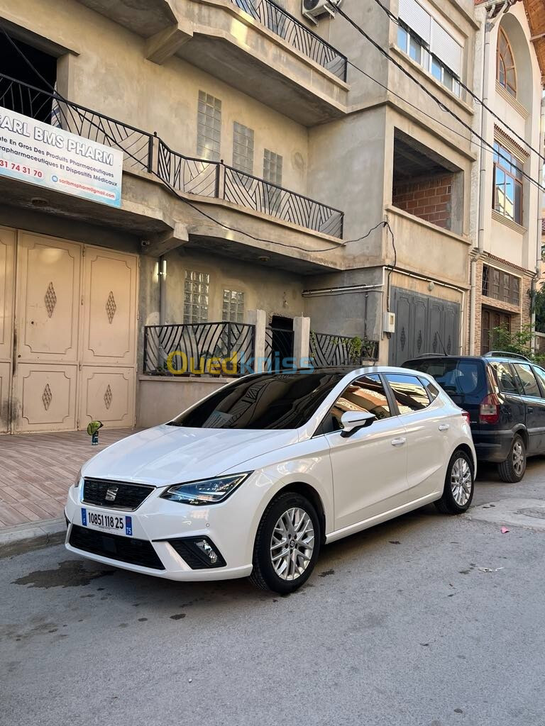
[[[409,361],[405,367],[432,375],[451,396],[472,396],[486,387],[485,367],[480,360],[424,358]]]

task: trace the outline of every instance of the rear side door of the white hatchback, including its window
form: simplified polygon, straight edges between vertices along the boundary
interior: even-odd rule
[[[437,396],[437,392],[435,396],[433,393],[435,387],[428,393],[424,381],[416,375],[386,373],[384,378],[405,427],[408,499],[412,502],[443,489],[445,468],[453,453],[449,418],[456,409],[442,399],[431,405],[432,397],[435,400]]]

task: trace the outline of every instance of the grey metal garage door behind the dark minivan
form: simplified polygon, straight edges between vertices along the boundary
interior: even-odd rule
[[[435,353],[459,353],[460,306],[440,298],[392,287],[395,333],[389,345],[389,364]]]

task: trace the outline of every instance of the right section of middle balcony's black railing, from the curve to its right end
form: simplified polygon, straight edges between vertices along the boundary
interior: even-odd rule
[[[305,229],[342,238],[344,213],[219,161],[185,157],[158,142],[158,173],[185,194],[216,197]]]

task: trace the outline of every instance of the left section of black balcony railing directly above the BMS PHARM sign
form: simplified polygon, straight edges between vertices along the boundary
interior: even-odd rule
[[[151,170],[153,135],[128,123],[65,101],[51,91],[43,91],[4,73],[0,73],[0,106],[71,131],[84,139],[121,149],[127,166]]]

